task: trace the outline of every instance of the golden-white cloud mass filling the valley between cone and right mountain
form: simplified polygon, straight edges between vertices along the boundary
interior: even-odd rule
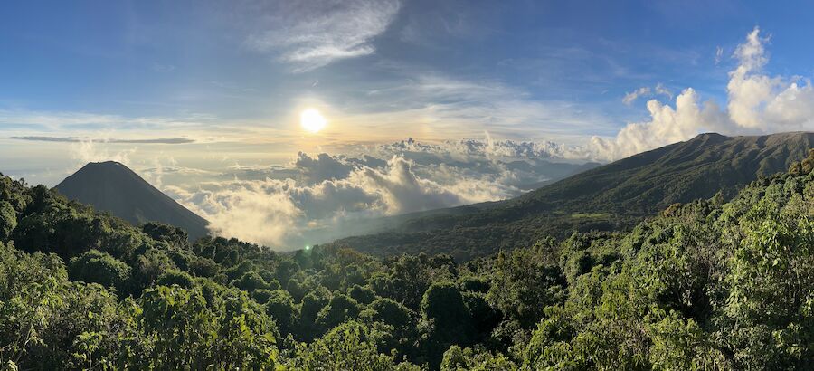
[[[575,167],[549,162],[564,153],[552,143],[488,135],[439,144],[409,138],[355,149],[364,154],[300,152],[288,166],[230,166],[220,180],[209,176],[163,190],[209,220],[213,233],[289,249],[345,235],[349,221],[371,224],[370,218],[521,195]],[[153,166],[150,178],[155,183],[166,173]]]

